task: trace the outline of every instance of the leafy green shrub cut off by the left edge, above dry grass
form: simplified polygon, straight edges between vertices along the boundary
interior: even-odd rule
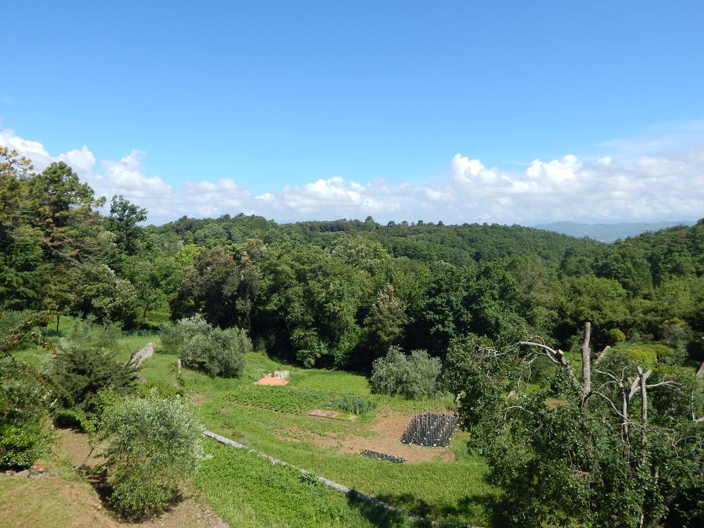
[[[27,369],[0,359],[0,468],[30,467],[51,438],[42,427],[49,390]]]

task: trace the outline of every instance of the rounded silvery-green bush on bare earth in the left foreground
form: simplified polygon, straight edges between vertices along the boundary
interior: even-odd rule
[[[123,516],[143,519],[177,501],[182,485],[202,458],[203,426],[179,396],[111,397],[99,424],[102,455],[112,493]]]

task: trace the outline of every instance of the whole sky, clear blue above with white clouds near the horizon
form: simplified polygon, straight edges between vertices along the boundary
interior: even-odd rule
[[[24,1],[3,16],[0,141],[39,168],[73,160],[154,221],[704,216],[704,195],[685,196],[704,164],[700,1]],[[653,177],[680,194],[647,194]],[[611,180],[581,213],[560,207]]]

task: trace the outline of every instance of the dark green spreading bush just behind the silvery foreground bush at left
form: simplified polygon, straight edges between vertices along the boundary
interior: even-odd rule
[[[55,396],[64,408],[93,413],[100,391],[134,391],[137,368],[118,363],[115,353],[84,345],[64,345],[49,364],[49,377],[61,387]]]

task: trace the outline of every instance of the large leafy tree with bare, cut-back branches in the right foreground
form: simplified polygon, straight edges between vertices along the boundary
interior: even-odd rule
[[[590,330],[582,376],[541,339],[498,350],[474,338],[448,353],[470,450],[486,458],[487,482],[501,490],[494,522],[657,527],[690,501],[685,525],[698,525],[703,511],[691,498],[704,491],[702,420],[693,419],[700,382],[693,372],[672,379],[645,370],[617,351],[592,361]],[[529,389],[538,357],[555,370]]]

